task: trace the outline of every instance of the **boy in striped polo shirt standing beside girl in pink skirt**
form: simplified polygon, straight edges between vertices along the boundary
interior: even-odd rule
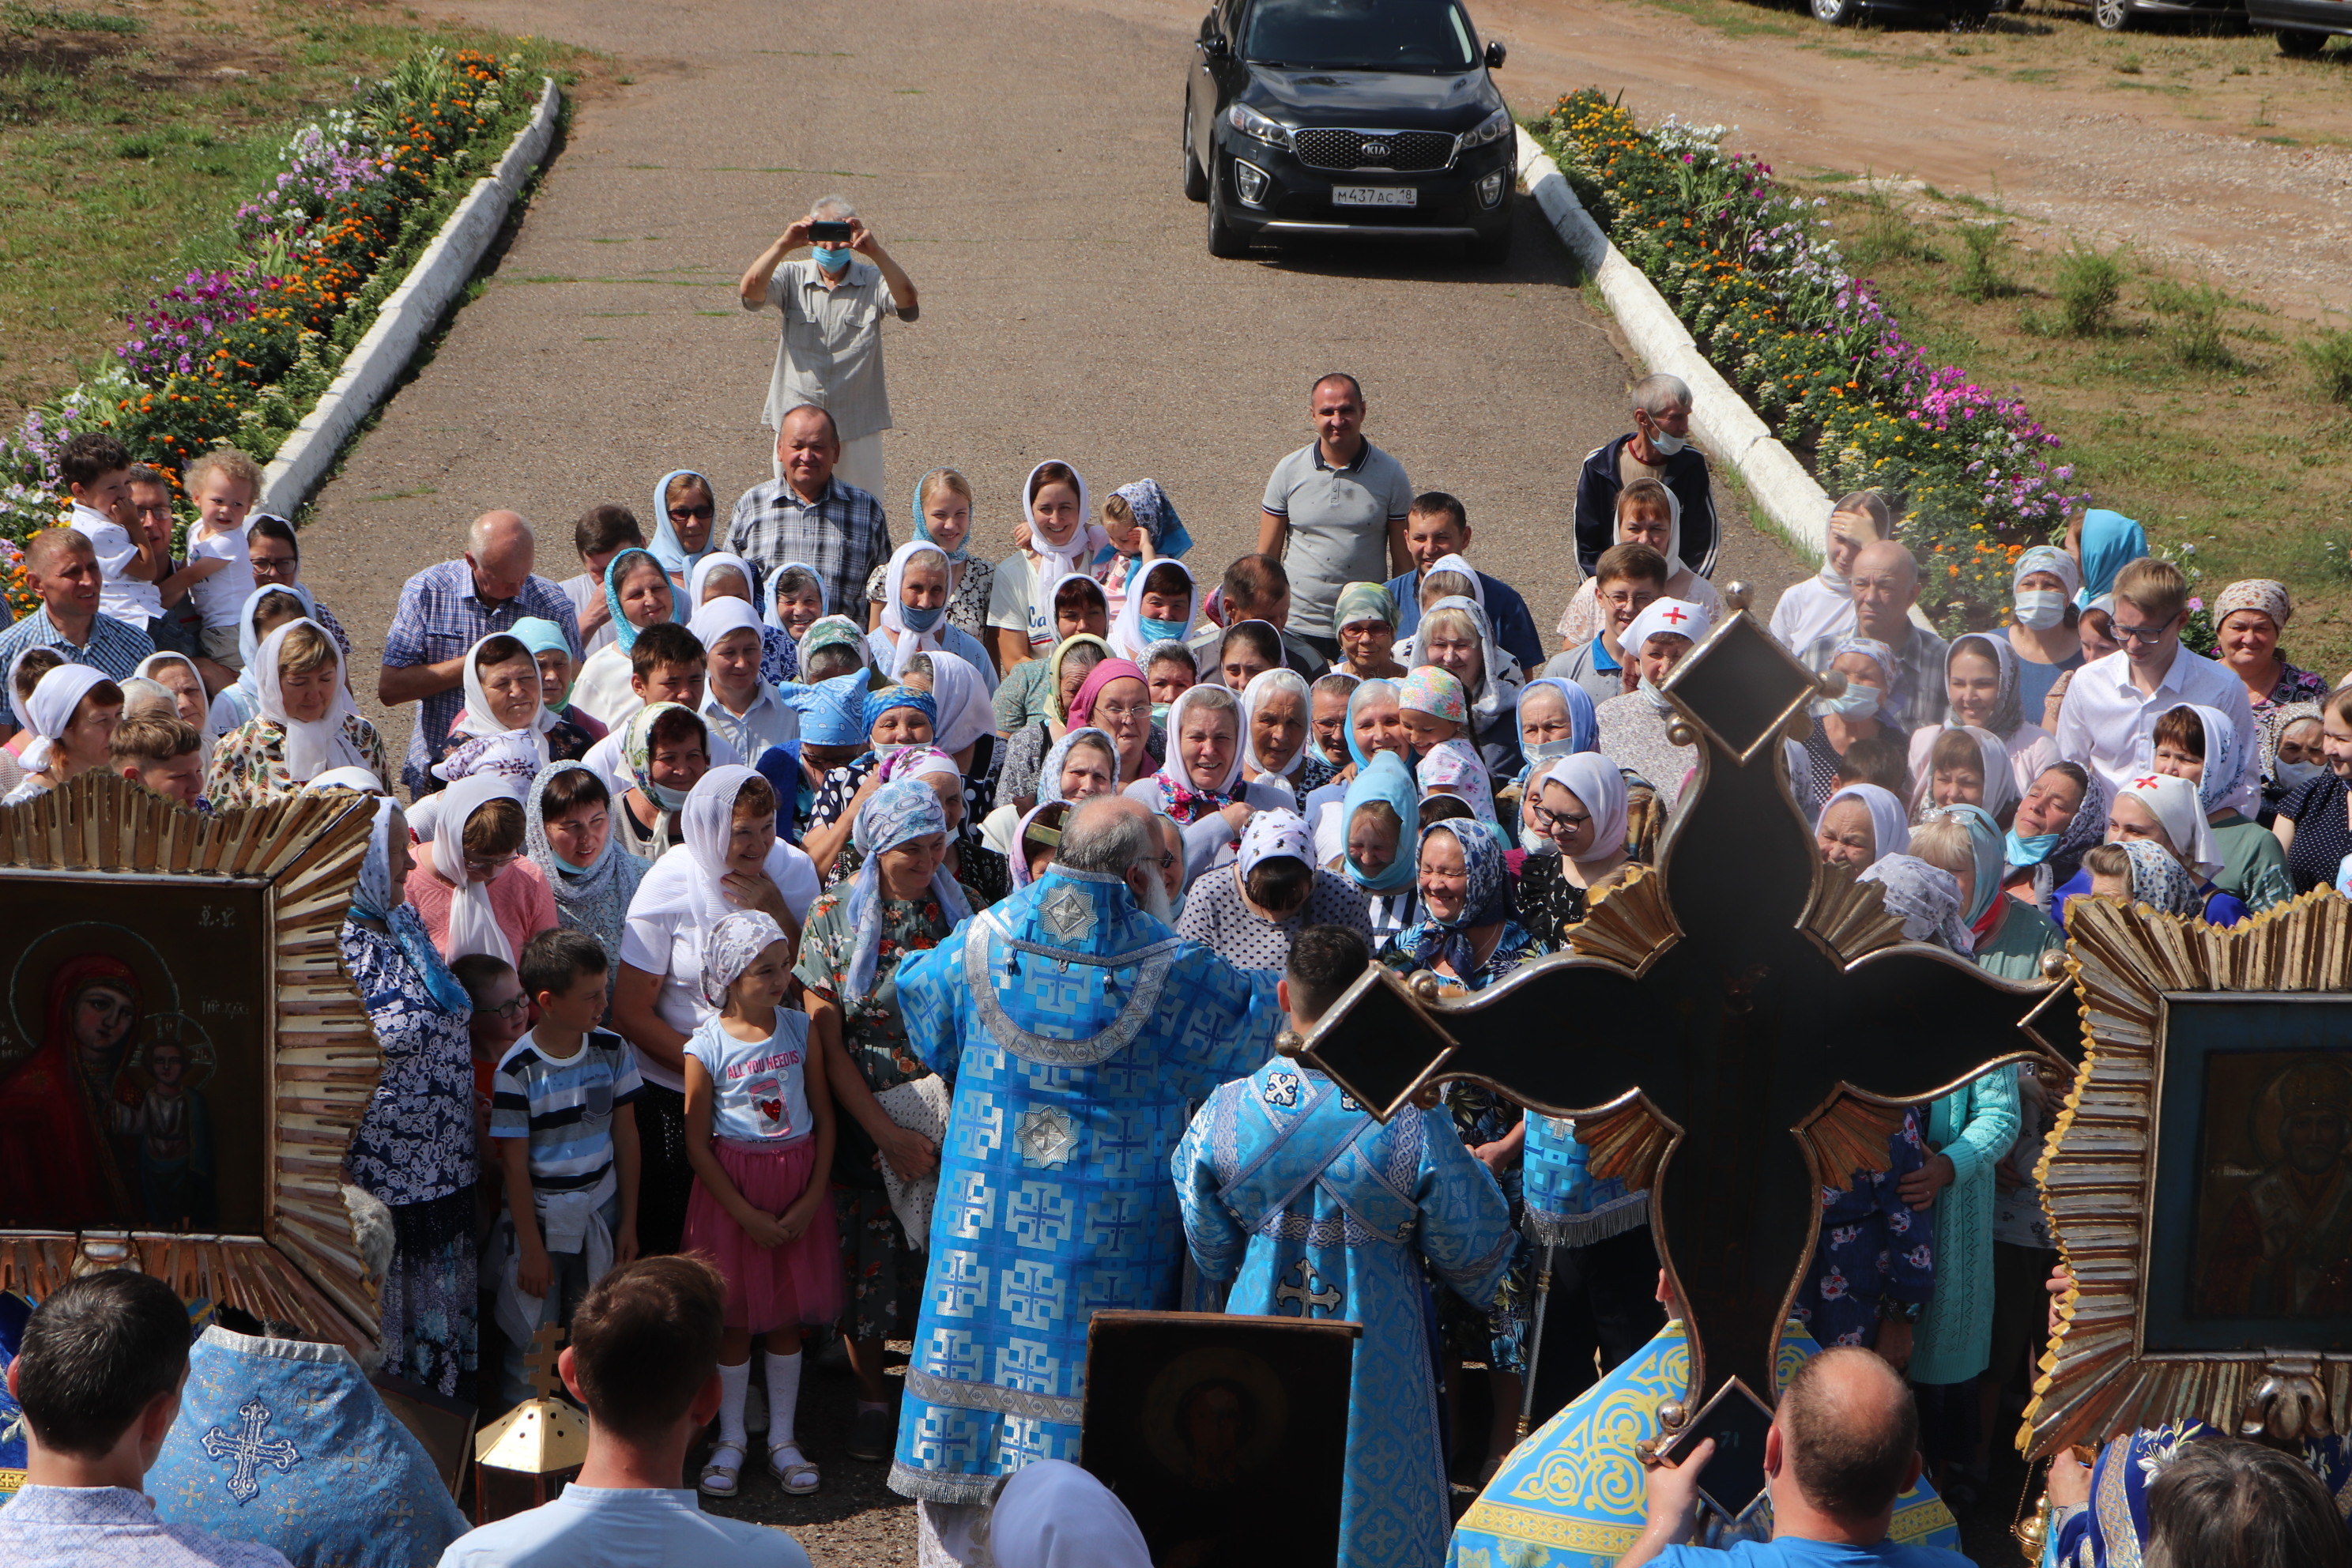
[[[489,1135],[506,1171],[510,1246],[499,1276],[506,1394],[529,1399],[522,1363],[541,1324],[572,1309],[607,1269],[637,1255],[637,1058],[604,1018],[604,947],[586,931],[541,931],[522,947],[539,1027],[499,1060]],[[529,1215],[529,1218],[524,1218]]]

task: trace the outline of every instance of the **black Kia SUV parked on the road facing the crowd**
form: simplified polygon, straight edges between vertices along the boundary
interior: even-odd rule
[[[1517,139],[1454,0],[1218,0],[1183,89],[1183,193],[1209,254],[1279,235],[1510,252]]]

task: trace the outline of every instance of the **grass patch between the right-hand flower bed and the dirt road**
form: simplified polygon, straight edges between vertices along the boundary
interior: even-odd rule
[[[1790,183],[1828,197],[1849,256],[1872,254],[1856,270],[1931,362],[2013,388],[2065,442],[2091,505],[2138,517],[2157,543],[2194,543],[2206,595],[2286,581],[2288,656],[2331,677],[2352,668],[2352,329],[2129,247],[2027,252],[1969,202]],[[2009,294],[1966,287],[1978,247]]]

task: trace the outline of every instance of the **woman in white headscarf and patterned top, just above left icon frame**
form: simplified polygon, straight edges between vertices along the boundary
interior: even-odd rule
[[[529,668],[536,705],[539,665],[532,665],[529,654],[522,663]],[[318,621],[306,616],[280,625],[261,642],[245,675],[254,679],[259,712],[212,748],[205,797],[214,811],[294,795],[327,769],[360,766],[386,776],[383,736],[353,708],[350,686],[343,684],[343,651]]]

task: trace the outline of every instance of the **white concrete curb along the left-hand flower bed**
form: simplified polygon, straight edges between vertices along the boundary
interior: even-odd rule
[[[555,87],[555,78],[541,78],[539,108],[532,110],[529,125],[515,132],[499,167],[473,183],[409,275],[376,306],[376,322],[367,336],[350,348],[334,383],[320,393],[318,407],[294,425],[278,456],[261,473],[261,501],[254,510],[292,517],[327,477],[343,442],[393,390],[426,334],[440,322],[449,301],[463,292],[473,268],[499,237],[499,226],[506,223],[508,209],[522,195],[522,183],[548,155],[548,143],[555,141],[560,110],[562,92]]]

